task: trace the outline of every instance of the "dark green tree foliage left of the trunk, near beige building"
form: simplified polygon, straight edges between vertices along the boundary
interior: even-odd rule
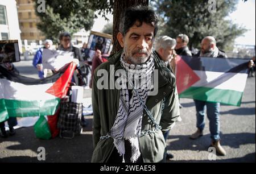
[[[46,0],[45,13],[38,13],[40,22],[37,24],[46,38],[55,42],[58,40],[60,32],[68,31],[71,34],[79,31],[81,28],[90,30],[93,26],[94,9],[89,1],[84,0],[65,0],[51,1]],[[35,9],[38,9],[39,3],[35,3]]]

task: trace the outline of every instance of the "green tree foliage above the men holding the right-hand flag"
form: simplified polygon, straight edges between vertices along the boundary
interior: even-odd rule
[[[187,34],[189,47],[199,47],[201,39],[211,35],[216,38],[221,49],[230,47],[234,39],[246,30],[233,24],[228,15],[236,10],[238,0],[216,1],[216,11],[209,12],[212,5],[207,0],[160,0],[155,7],[164,19],[162,34],[176,38],[178,34]]]

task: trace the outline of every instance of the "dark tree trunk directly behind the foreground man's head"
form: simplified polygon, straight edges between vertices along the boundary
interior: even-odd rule
[[[148,6],[148,0],[115,0],[113,6],[113,48],[112,54],[118,52],[122,47],[117,40],[117,34],[119,32],[119,23],[121,14],[130,6],[142,5]]]

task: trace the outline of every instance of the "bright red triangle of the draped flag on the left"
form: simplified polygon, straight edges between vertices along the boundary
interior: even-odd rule
[[[54,82],[54,84],[49,89],[46,90],[46,93],[52,94],[55,97],[63,98],[68,92],[69,84],[71,82],[75,68],[75,63],[69,64],[66,71],[60,78],[58,78],[56,82]]]

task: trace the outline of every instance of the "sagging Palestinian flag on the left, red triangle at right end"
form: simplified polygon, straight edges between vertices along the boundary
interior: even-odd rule
[[[76,64],[45,79],[34,79],[7,71],[0,65],[0,122],[9,117],[53,115],[60,98],[68,92]]]

